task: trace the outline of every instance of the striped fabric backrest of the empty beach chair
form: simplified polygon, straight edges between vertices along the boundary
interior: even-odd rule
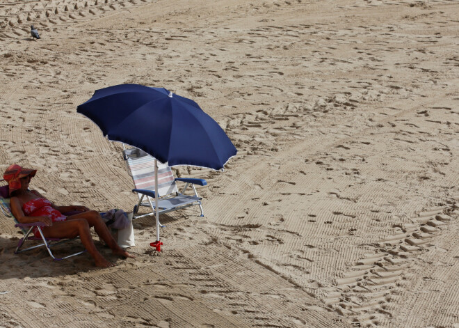
[[[178,192],[174,175],[167,163],[158,162],[158,190],[156,191],[154,189],[154,157],[138,148],[124,150],[123,157],[136,189],[153,190],[160,197]]]

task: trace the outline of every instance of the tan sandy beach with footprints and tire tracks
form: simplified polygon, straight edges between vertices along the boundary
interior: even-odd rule
[[[30,26],[40,33],[33,40]],[[198,208],[134,221],[135,259],[15,255],[0,327],[459,327],[459,2],[4,0],[0,172],[58,205],[131,211],[95,90],[189,97],[238,149]],[[56,249],[81,248],[72,241]]]

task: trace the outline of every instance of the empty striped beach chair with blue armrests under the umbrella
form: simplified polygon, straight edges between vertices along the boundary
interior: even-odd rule
[[[156,214],[154,208],[154,198],[158,196],[159,214],[167,213],[190,206],[198,205],[201,210],[201,217],[204,217],[201,200],[196,192],[195,185],[205,186],[206,180],[196,178],[174,178],[172,170],[168,164],[158,162],[158,190],[154,187],[154,157],[148,155],[138,148],[124,149],[124,161],[126,162],[129,175],[134,181],[135,189],[133,192],[138,194],[138,203],[134,206],[134,219]],[[179,192],[176,182],[184,182],[182,192]],[[191,186],[194,195],[186,195],[186,189]],[[152,212],[138,214],[140,206],[151,208]]]

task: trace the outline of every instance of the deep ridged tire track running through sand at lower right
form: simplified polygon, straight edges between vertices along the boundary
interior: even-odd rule
[[[398,295],[408,284],[420,253],[458,219],[459,204],[426,208],[412,224],[396,224],[394,233],[375,246],[375,252],[358,260],[323,294],[328,309],[348,318],[355,327],[390,326],[397,311]]]

